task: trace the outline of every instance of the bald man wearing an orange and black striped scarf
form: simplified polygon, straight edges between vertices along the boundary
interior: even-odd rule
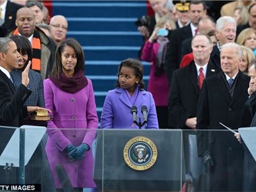
[[[18,10],[16,26],[17,28],[9,31],[6,36],[23,35],[28,38],[33,48],[31,69],[39,72],[42,79],[47,78],[54,63],[56,45],[40,28],[35,26],[35,15],[27,7]]]

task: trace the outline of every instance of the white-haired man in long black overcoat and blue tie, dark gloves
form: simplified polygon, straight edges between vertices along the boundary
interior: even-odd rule
[[[221,47],[221,72],[205,79],[198,100],[197,143],[209,174],[210,191],[241,191],[243,147],[219,123],[231,129],[241,125],[243,106],[248,99],[250,78],[239,71],[242,51],[239,45]],[[202,131],[207,129],[207,131]],[[219,131],[212,131],[219,130]]]

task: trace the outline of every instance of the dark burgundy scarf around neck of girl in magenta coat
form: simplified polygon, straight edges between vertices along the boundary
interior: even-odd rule
[[[49,78],[56,86],[58,86],[58,88],[68,93],[79,92],[88,84],[88,80],[84,76],[84,72],[82,70],[77,71],[72,77],[67,77],[63,72],[61,72],[59,78]]]

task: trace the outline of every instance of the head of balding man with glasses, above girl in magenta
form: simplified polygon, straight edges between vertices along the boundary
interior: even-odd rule
[[[57,45],[65,40],[68,30],[67,19],[63,15],[55,15],[50,21],[51,37]]]

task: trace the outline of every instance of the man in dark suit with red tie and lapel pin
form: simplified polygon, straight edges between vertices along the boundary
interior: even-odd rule
[[[194,61],[173,72],[172,86],[170,87],[168,122],[170,127],[177,129],[195,129],[196,127],[196,107],[202,85],[200,74],[202,73],[203,77],[207,78],[220,72],[220,66],[214,66],[209,60],[212,51],[209,36],[196,35],[192,40],[192,49]],[[200,68],[202,68],[202,72],[200,72]],[[190,151],[196,151],[196,143],[193,145],[191,142],[191,134],[195,136],[195,131],[183,132],[185,170],[186,175],[191,175],[190,178],[193,178],[191,180],[193,186],[198,189],[201,182],[197,175],[201,173],[202,161],[196,156],[193,158],[189,155]]]

